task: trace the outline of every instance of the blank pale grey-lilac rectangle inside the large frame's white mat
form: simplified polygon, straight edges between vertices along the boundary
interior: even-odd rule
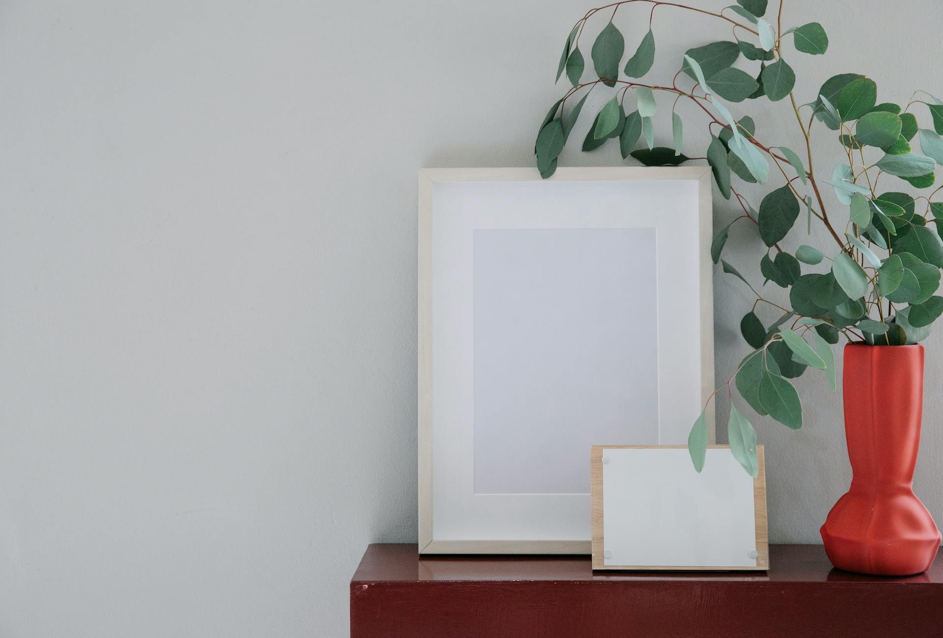
[[[588,494],[591,445],[658,444],[655,239],[474,231],[475,493]]]

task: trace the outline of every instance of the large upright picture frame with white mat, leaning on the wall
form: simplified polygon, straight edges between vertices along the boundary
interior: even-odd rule
[[[710,179],[419,172],[420,553],[589,554],[589,446],[687,442],[714,387]]]

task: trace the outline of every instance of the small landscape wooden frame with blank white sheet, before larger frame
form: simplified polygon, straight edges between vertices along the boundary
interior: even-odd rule
[[[753,479],[729,446],[703,471],[685,446],[592,446],[592,567],[766,570],[766,465]]]

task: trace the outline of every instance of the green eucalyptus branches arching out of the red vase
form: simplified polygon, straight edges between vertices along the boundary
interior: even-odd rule
[[[903,187],[908,190],[933,188],[935,166],[943,164],[943,102],[917,91],[903,107],[879,104],[874,81],[864,74],[850,73],[835,75],[819,90],[809,91],[806,99],[811,101],[801,105],[796,75],[787,60],[794,55],[824,54],[829,43],[825,29],[814,22],[786,27],[782,1],[776,15],[769,18],[768,0],[736,2],[720,12],[660,0],[623,0],[587,11],[572,27],[557,65],[557,81],[565,75],[571,87],[540,125],[537,165],[543,177],[554,174],[557,156],[593,90],[608,91],[611,99],[594,114],[583,150],[618,140],[623,157],[632,155],[646,166],[673,166],[690,159],[682,153],[685,124],[676,106],[684,100],[699,107],[711,133],[702,159],[710,164],[720,195],[740,211],[714,237],[711,256],[756,297],[740,323],[753,352],[715,390],[707,405],[724,388],[732,397],[736,387],[757,414],[798,430],[802,427],[802,402],[790,380],[807,368],[818,368],[834,391],[832,346],[841,336],[872,346],[915,344],[930,334],[930,324],[943,313],[943,297],[935,295],[943,268],[943,242],[938,235],[943,229],[943,202],[933,201],[943,187],[918,196],[900,188],[879,188],[879,183],[890,179],[882,180],[885,174],[908,183],[910,188]],[[636,3],[651,7],[651,12],[642,14],[649,19],[649,30],[623,66],[625,41],[616,21],[627,12],[620,9]],[[732,27],[734,40],[689,49],[668,84],[641,81],[653,66],[652,24],[659,8],[687,9],[723,21]],[[591,45],[582,39],[591,20],[605,19],[608,22]],[[586,81],[585,48],[592,63]],[[734,66],[741,57],[745,62],[740,66],[752,67],[751,73]],[[654,145],[653,116],[659,108],[656,96],[670,99],[674,148]],[[635,98],[634,107],[631,97]],[[802,153],[760,136],[750,117],[735,120],[728,106],[764,98],[787,101],[791,106],[789,119],[794,117],[802,132]],[[929,110],[932,127],[920,128],[912,112],[923,113],[924,107]],[[834,167],[829,179],[822,179],[814,170],[813,135],[834,137],[843,149],[844,161]],[[920,152],[914,150],[917,141]],[[737,180],[769,184],[769,193],[758,209],[738,191]],[[834,190],[840,205],[825,205],[825,188]],[[795,254],[780,247],[803,209],[802,230],[811,235],[813,221],[820,223],[834,245],[802,245]],[[767,247],[759,263],[763,286],[771,282],[786,288],[788,302],[770,301],[761,292],[763,286],[758,290],[722,258],[730,226],[738,221],[752,223]],[[803,272],[803,265],[816,268]],[[764,325],[756,314],[758,306],[767,306],[781,316]],[[727,432],[737,461],[756,476],[756,432],[733,401]],[[703,412],[688,438],[691,459],[699,472],[707,437]]]

